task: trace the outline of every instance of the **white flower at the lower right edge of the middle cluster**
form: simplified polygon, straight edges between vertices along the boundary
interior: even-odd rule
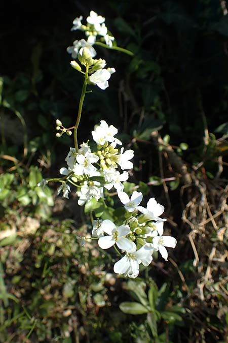
[[[104,179],[107,184],[104,185],[104,187],[107,190],[110,190],[112,187],[114,187],[117,192],[122,192],[124,189],[124,185],[121,183],[121,181],[127,181],[129,174],[128,172],[124,171],[122,174],[115,168],[109,168],[104,169]]]

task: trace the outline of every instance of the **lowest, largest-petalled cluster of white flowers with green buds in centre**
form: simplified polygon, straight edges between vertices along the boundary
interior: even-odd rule
[[[99,238],[98,245],[103,249],[117,245],[124,256],[115,263],[115,273],[135,278],[139,274],[139,265],[142,263],[148,266],[154,252],[159,251],[167,261],[166,247],[174,248],[176,239],[163,236],[166,220],[161,219],[160,215],[164,207],[155,198],[149,199],[144,208],[139,206],[142,201],[141,192],[133,192],[131,199],[125,192],[119,192],[118,196],[126,211],[123,223],[116,226],[110,220],[94,221],[92,236]]]

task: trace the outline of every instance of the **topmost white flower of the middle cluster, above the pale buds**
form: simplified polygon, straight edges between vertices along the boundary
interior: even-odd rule
[[[105,120],[101,120],[100,126],[97,126],[96,129],[92,131],[92,136],[94,141],[100,145],[104,145],[105,142],[114,142],[122,145],[122,142],[114,137],[117,133],[117,128],[113,125],[108,126]]]

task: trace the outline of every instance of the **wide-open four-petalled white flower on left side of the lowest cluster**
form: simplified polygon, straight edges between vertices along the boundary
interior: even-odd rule
[[[114,223],[106,219],[102,222],[101,228],[108,234],[108,236],[100,237],[98,240],[98,245],[102,249],[108,249],[115,243],[124,251],[132,251],[134,248],[136,249],[135,243],[124,237],[131,231],[128,225],[116,227]]]

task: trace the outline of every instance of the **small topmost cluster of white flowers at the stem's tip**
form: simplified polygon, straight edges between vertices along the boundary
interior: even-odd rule
[[[90,51],[91,57],[96,56],[96,50],[93,45],[96,43],[99,38],[103,44],[108,47],[112,47],[114,37],[108,32],[108,29],[105,25],[105,18],[98,15],[94,11],[90,11],[90,15],[86,18],[87,24],[82,24],[83,17],[75,18],[73,20],[73,27],[71,31],[81,30],[85,32],[87,41],[85,39],[76,40],[73,42],[72,46],[67,48],[67,52],[71,54],[73,58],[77,57],[78,53],[82,54],[83,48],[87,47]]]

